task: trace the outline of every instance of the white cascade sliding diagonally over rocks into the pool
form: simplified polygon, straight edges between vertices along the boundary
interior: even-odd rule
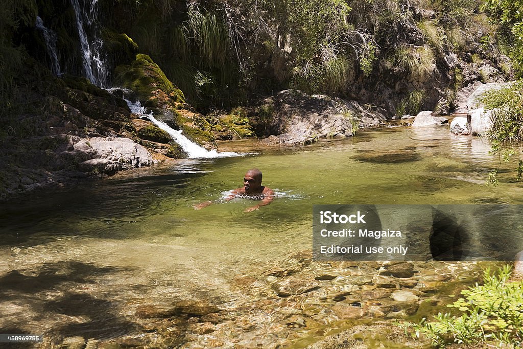
[[[109,91],[110,90],[111,89],[109,89]],[[209,151],[203,147],[200,147],[200,145],[198,145],[194,142],[191,142],[187,137],[185,137],[181,130],[177,131],[177,130],[173,129],[172,127],[170,127],[169,125],[167,125],[165,122],[157,120],[153,116],[152,112],[150,112],[149,114],[146,114],[147,110],[145,109],[145,107],[142,107],[140,102],[133,103],[128,99],[124,99],[124,100],[127,102],[127,105],[129,106],[129,109],[131,109],[131,112],[133,114],[141,115],[140,118],[142,118],[142,119],[146,118],[146,119],[151,120],[152,122],[155,123],[156,126],[161,128],[165,132],[169,133],[169,136],[172,137],[173,140],[180,145],[181,149],[183,149],[189,155],[190,158],[204,157],[206,159],[211,159],[214,157],[229,157],[229,156],[245,155],[245,154],[238,154],[238,153],[234,153],[234,152],[219,153],[215,150]]]

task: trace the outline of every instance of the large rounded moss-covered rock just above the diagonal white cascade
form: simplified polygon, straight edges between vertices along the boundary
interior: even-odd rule
[[[138,98],[145,102],[158,99],[159,96],[170,100],[155,100],[151,107],[160,107],[159,103],[176,106],[176,103],[185,103],[184,94],[174,87],[160,67],[151,57],[139,53],[130,65],[119,65],[115,70],[115,83],[134,91]],[[161,92],[161,93],[159,93]]]

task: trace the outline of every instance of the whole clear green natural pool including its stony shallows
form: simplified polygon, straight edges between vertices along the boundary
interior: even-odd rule
[[[220,150],[251,155],[181,160],[3,205],[0,333],[43,334],[40,347],[304,347],[354,319],[427,314],[439,303],[407,308],[412,299],[391,293],[445,299],[453,291],[443,283],[473,280],[477,263],[420,263],[417,278],[394,279],[375,262],[311,262],[312,205],[523,203],[519,183],[485,186],[497,166],[488,149],[447,127],[297,148],[238,141]],[[242,186],[252,167],[277,192],[271,205],[192,208]]]

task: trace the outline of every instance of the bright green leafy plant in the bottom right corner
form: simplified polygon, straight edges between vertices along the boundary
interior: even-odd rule
[[[423,319],[410,324],[413,336],[426,335],[434,346],[445,347],[452,342],[470,344],[480,341],[523,343],[523,282],[509,283],[511,267],[506,265],[497,274],[487,269],[483,285],[476,284],[461,291],[464,298],[448,305],[463,312],[461,316],[438,313],[435,321]]]

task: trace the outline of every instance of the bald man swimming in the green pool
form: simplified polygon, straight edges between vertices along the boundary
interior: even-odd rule
[[[261,171],[257,168],[247,171],[243,177],[243,187],[234,189],[232,193],[225,198],[225,201],[230,201],[235,197],[243,197],[253,200],[261,200],[258,205],[246,208],[244,212],[251,212],[259,209],[261,206],[269,205],[274,201],[274,191],[271,188],[261,185]],[[201,204],[195,205],[194,208],[199,210],[201,208],[212,205],[214,201],[205,201]]]

